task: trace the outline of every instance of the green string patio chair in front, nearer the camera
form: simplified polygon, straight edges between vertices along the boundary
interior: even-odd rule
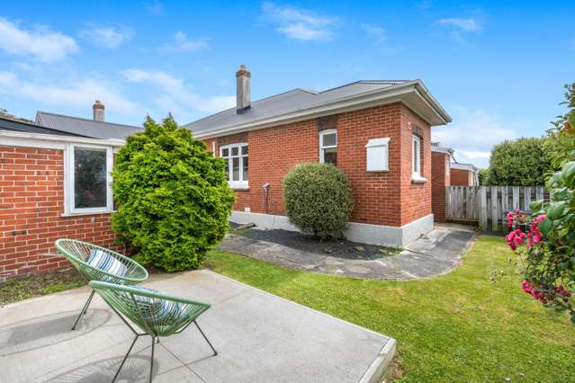
[[[130,345],[130,349],[121,361],[120,368],[116,371],[112,383],[118,378],[121,368],[128,355],[130,355],[134,343],[140,336],[149,335],[152,338],[152,352],[149,361],[149,381],[152,381],[154,369],[154,344],[159,342],[160,336],[180,334],[192,323],[198,328],[203,339],[210,345],[213,355],[218,355],[210,341],[203,334],[202,328],[196,322],[196,318],[208,308],[208,303],[197,302],[186,298],[176,298],[155,289],[147,289],[139,286],[121,286],[102,281],[91,281],[90,287],[94,289],[103,300],[108,303],[112,310],[120,316],[121,320],[130,327],[136,335]],[[124,317],[125,316],[125,317]],[[130,325],[128,320],[136,325],[143,333]]]

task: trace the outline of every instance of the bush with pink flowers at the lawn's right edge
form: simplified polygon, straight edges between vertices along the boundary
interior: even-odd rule
[[[524,264],[522,288],[545,307],[567,311],[575,323],[575,161],[546,183],[551,202],[535,201],[528,217],[508,213],[509,247]]]

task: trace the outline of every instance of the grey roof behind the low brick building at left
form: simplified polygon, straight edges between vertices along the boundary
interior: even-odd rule
[[[114,124],[81,119],[79,117],[64,116],[62,114],[49,113],[46,111],[36,112],[36,124],[51,129],[58,129],[67,133],[100,139],[124,139],[132,133],[144,131],[141,127],[132,125]]]

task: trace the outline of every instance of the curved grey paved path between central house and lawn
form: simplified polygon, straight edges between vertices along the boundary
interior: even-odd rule
[[[337,258],[233,234],[218,249],[295,270],[374,280],[412,280],[450,272],[459,265],[474,236],[468,227],[437,226],[400,254],[375,260]]]

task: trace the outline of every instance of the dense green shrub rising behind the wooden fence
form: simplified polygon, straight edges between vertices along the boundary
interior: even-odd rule
[[[543,138],[506,140],[491,149],[486,183],[536,186],[545,183],[551,164],[544,154]]]

